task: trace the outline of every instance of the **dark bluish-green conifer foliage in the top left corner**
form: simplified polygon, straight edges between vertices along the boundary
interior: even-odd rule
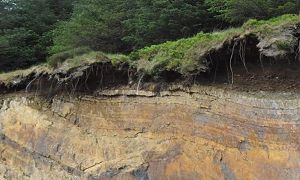
[[[0,0],[0,69],[45,60],[47,47],[52,44],[49,31],[57,21],[69,16],[70,3],[71,0]]]

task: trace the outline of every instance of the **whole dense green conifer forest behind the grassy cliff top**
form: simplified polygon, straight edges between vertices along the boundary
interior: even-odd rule
[[[0,0],[0,71],[80,47],[127,53],[299,10],[299,0]]]

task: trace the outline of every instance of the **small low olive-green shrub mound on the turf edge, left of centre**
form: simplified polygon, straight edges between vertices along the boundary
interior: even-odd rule
[[[91,52],[92,50],[88,47],[78,47],[75,49],[63,51],[57,54],[50,56],[47,60],[48,64],[51,67],[57,67],[67,59],[72,59],[75,56],[80,56],[86,53]]]

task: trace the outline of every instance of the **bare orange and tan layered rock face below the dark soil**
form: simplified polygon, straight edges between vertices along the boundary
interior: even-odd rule
[[[299,179],[300,97],[217,88],[2,96],[5,179]]]

